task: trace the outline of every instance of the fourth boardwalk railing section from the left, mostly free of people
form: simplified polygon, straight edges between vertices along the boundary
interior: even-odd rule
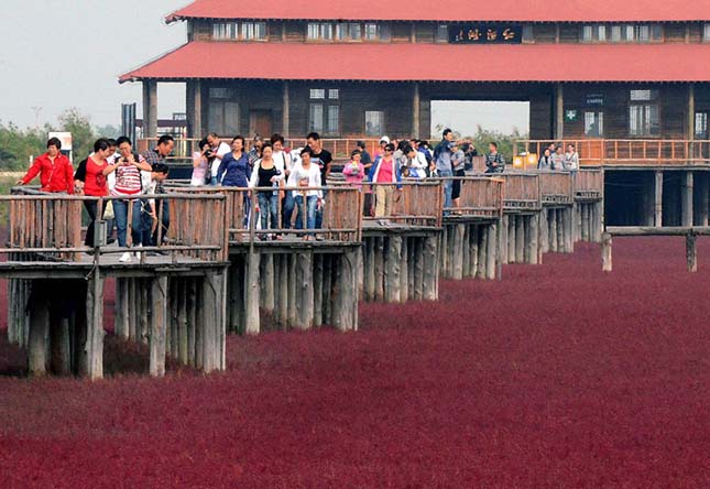
[[[505,181],[484,176],[440,178],[461,183],[460,206],[445,208],[466,217],[501,217]]]

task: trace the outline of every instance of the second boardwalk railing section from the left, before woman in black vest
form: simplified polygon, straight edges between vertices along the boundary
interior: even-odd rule
[[[323,207],[323,226],[318,229],[307,229],[304,221],[307,216],[298,215],[298,207],[294,207],[294,217],[291,227],[286,228],[282,221],[282,199],[277,199],[278,226],[274,229],[258,229],[259,215],[256,213],[259,191],[274,192],[273,188],[239,188],[239,187],[192,187],[186,184],[171,183],[166,187],[168,193],[177,192],[196,195],[223,195],[226,198],[225,229],[229,235],[229,242],[241,244],[253,242],[258,239],[282,238],[284,236],[308,236],[316,233],[325,240],[338,242],[359,242],[362,237],[362,194],[358,188],[346,186],[331,187],[284,187],[276,192],[298,191],[304,194],[308,191],[327,191],[327,198]],[[302,229],[295,229],[297,219]]]

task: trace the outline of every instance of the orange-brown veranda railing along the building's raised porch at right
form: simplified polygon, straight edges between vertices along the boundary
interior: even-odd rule
[[[682,139],[562,139],[520,140],[513,153],[536,157],[550,143],[575,144],[582,166],[685,166],[710,164],[710,141]]]

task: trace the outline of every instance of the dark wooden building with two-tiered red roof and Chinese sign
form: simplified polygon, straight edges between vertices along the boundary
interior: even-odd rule
[[[436,139],[433,101],[527,101],[528,151],[571,141],[607,167],[609,222],[707,222],[707,1],[543,6],[196,0],[165,19],[187,42],[120,82],[143,84],[148,138],[159,83],[186,84],[193,138]]]

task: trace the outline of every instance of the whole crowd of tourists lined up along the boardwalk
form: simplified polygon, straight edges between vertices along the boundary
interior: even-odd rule
[[[43,192],[108,197],[101,209],[108,241],[114,241],[116,228],[116,240],[119,247],[125,248],[130,227],[132,247],[156,247],[167,236],[170,206],[163,199],[144,196],[165,193],[166,157],[174,143],[173,137],[162,135],[155,148],[139,154],[127,137],[101,138],[95,142],[94,152],[74,171],[61,152],[61,141],[52,138],[47,152],[34,161],[18,184],[29,184],[40,175]],[[342,178],[347,185],[363,192],[364,215],[385,224],[400,200],[404,181],[439,178],[445,213],[449,214],[460,206],[460,177],[473,170],[477,156],[479,151],[473,142],[457,140],[450,129],[443,131],[441,140],[434,146],[425,140],[391,140],[383,135],[372,154],[363,141],[357,143],[342,167]],[[498,151],[496,142],[490,142],[488,151],[480,156],[484,174],[505,171],[506,161]],[[244,227],[249,226],[253,192],[253,210],[258,216],[254,226],[262,231],[281,231],[260,232],[259,236],[281,240],[283,231],[293,228],[305,240],[319,240],[320,235],[307,231],[323,228],[332,162],[332,154],[324,149],[317,132],[307,134],[303,148],[293,149],[287,148],[284,137],[277,133],[270,139],[256,135],[248,144],[242,135],[228,142],[211,132],[199,141],[193,154],[190,185],[249,188],[250,192],[243,194]],[[539,156],[537,169],[576,172],[579,155],[575,145],[569,144],[565,151],[561,145],[551,143]],[[98,200],[85,200],[84,205],[90,219],[85,243],[92,247]],[[134,257],[140,258],[140,252],[124,252],[120,261],[130,262]]]

